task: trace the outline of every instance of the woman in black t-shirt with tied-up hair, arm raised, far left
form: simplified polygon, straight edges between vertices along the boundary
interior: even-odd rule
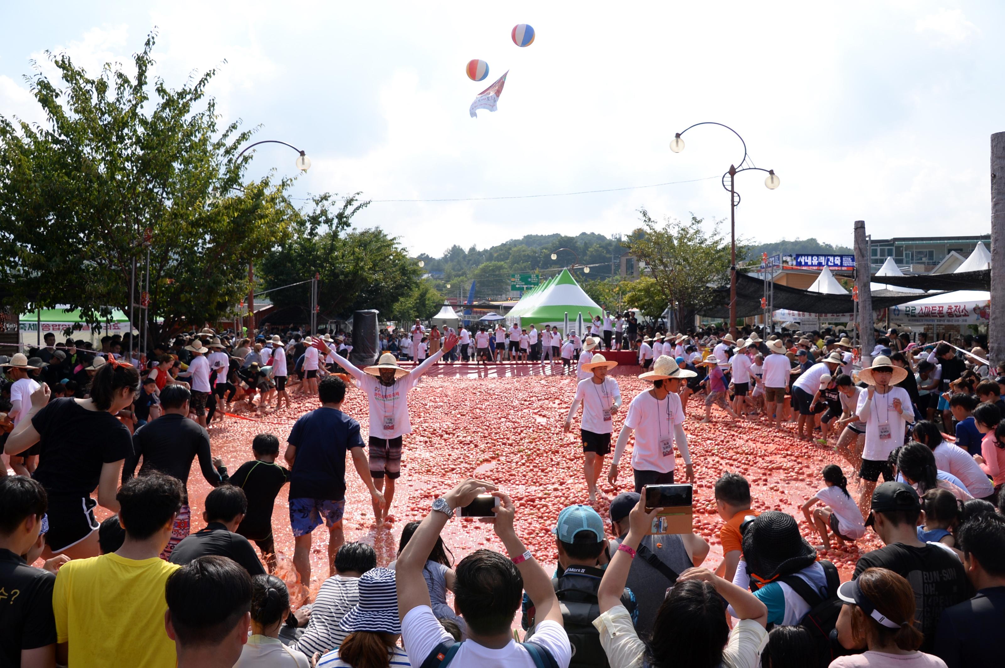
[[[116,414],[129,408],[139,391],[139,372],[110,356],[94,372],[88,399],[49,402],[45,383],[31,395],[29,419],[11,432],[4,452],[16,455],[39,446],[33,477],[45,487],[49,515],[43,559],[98,555],[94,506],[119,512],[123,461],[133,454],[132,435]],[[96,501],[90,497],[94,489]]]

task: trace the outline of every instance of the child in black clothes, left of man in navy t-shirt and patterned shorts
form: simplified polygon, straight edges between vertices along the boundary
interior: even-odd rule
[[[275,571],[275,543],[272,539],[272,507],[282,485],[289,481],[289,471],[276,464],[279,439],[273,434],[258,434],[251,442],[254,459],[241,464],[230,476],[230,484],[244,490],[248,509],[237,526],[248,540],[261,550],[262,562],[269,573]]]

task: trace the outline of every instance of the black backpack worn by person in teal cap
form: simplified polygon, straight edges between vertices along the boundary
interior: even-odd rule
[[[560,578],[552,579],[555,596],[562,606],[562,625],[572,645],[571,668],[607,668],[607,654],[600,644],[600,632],[593,620],[600,617],[597,589],[604,572],[591,567],[569,567]],[[621,603],[634,614],[635,602],[628,590]]]

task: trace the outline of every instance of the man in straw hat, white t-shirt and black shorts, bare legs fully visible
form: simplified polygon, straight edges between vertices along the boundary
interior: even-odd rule
[[[576,396],[566,417],[565,430],[568,433],[572,429],[572,418],[576,415],[576,410],[583,404],[583,421],[579,433],[583,442],[583,475],[586,476],[586,488],[591,501],[597,500],[597,480],[604,470],[604,457],[611,451],[613,417],[621,408],[618,383],[613,378],[607,378],[607,372],[617,366],[617,362],[608,362],[599,353],[583,365],[581,369],[592,375],[576,386]]]

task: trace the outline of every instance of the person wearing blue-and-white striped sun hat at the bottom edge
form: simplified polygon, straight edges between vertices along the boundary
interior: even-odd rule
[[[360,602],[342,618],[349,635],[338,649],[318,661],[318,668],[408,668],[408,655],[398,647],[401,620],[395,572],[372,569],[360,576]]]

